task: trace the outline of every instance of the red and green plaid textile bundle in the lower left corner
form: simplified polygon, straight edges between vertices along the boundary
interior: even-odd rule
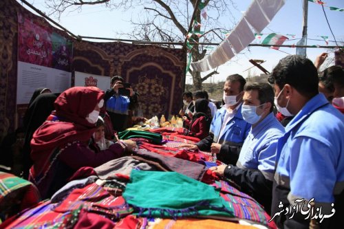
[[[1,213],[10,215],[17,213],[18,210],[38,204],[40,199],[39,190],[34,184],[10,173],[0,172]]]

